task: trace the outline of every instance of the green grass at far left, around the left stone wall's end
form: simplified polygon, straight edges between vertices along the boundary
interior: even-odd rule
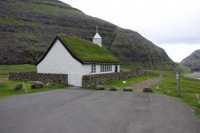
[[[34,65],[0,65],[0,97],[6,97],[11,95],[19,95],[26,93],[34,93],[39,91],[47,91],[59,88],[66,88],[65,84],[55,84],[53,86],[44,86],[41,89],[32,89],[32,82],[21,81],[21,80],[8,80],[9,72],[28,72],[28,71],[36,71],[36,67]],[[22,90],[14,91],[13,88],[24,82],[27,92],[25,88]]]

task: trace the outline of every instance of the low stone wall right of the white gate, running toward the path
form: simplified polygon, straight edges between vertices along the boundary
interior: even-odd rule
[[[90,87],[98,84],[105,84],[111,81],[126,79],[135,76],[141,75],[152,75],[158,76],[155,73],[142,71],[142,70],[134,70],[128,72],[117,72],[117,73],[107,73],[107,74],[94,74],[94,75],[84,75],[82,77],[82,87]]]

